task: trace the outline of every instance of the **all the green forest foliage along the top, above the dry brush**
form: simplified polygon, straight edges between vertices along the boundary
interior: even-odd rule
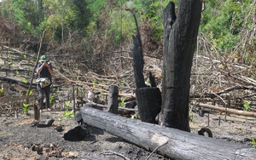
[[[63,43],[70,40],[67,48],[76,48],[78,43],[84,57],[91,53],[107,53],[117,50],[120,44],[130,44],[135,33],[134,10],[143,37],[150,48],[148,53],[161,52],[163,39],[162,15],[167,3],[162,0],[5,0],[3,17],[8,17],[22,28],[24,33],[37,35],[46,31],[45,39]],[[173,1],[178,8],[177,0]],[[234,54],[242,63],[252,65],[255,59],[255,34],[253,17],[255,3],[243,1],[207,1],[201,14],[200,36],[207,43],[203,52],[215,55]],[[16,27],[15,27],[16,28]],[[24,34],[26,35],[26,34]],[[79,36],[76,36],[79,35]],[[74,40],[75,37],[75,40]],[[97,38],[95,38],[97,37]],[[100,38],[98,38],[100,37]],[[200,39],[200,38],[199,38]],[[21,41],[20,41],[21,42]],[[154,47],[152,47],[154,46]],[[79,49],[81,49],[79,48]],[[207,49],[207,50],[205,50]],[[26,54],[23,55],[26,59]],[[11,61],[10,61],[11,62]],[[79,77],[78,77],[79,78]]]

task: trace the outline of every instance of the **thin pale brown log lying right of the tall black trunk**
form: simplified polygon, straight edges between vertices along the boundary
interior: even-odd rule
[[[218,110],[218,111],[227,111],[228,113],[236,114],[236,115],[241,115],[241,116],[247,116],[247,117],[256,117],[256,113],[253,111],[241,111],[241,110],[236,110],[236,109],[230,109],[230,108],[225,108],[221,106],[212,106],[208,104],[195,104],[196,106],[201,106],[203,108],[209,108],[212,110]]]

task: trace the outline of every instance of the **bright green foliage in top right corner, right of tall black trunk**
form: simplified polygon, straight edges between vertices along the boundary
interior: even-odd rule
[[[252,2],[213,0],[207,1],[206,5],[202,13],[202,32],[221,53],[230,53],[241,42],[245,29],[253,25]]]

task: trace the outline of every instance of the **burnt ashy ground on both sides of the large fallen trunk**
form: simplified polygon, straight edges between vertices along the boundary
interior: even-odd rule
[[[0,159],[147,159],[150,151],[129,143],[121,137],[108,134],[102,129],[87,126],[84,140],[64,140],[63,134],[77,122],[74,117],[63,118],[63,111],[44,111],[41,119],[53,118],[55,122],[46,128],[32,126],[33,111],[30,115],[18,114],[0,117]],[[193,112],[191,132],[197,133],[201,127],[212,130],[213,138],[246,143],[252,146],[251,138],[256,137],[255,118],[224,115],[212,112],[200,117]],[[209,118],[208,118],[209,117]],[[208,122],[209,119],[209,122]],[[219,121],[220,119],[220,121]],[[219,123],[220,122],[220,123]],[[63,131],[58,132],[57,126]],[[43,151],[33,151],[37,148]],[[36,149],[34,149],[36,148]],[[149,159],[169,159],[154,153]]]

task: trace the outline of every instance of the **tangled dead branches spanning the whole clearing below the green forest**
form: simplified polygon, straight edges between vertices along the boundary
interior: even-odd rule
[[[1,71],[5,77],[20,77],[20,80],[28,79],[31,75],[31,63],[35,60],[32,54],[4,47],[2,49],[1,59],[3,66]],[[24,56],[24,54],[29,56]],[[55,66],[55,85],[60,88],[71,88],[71,85],[82,87],[85,90],[94,89],[94,91],[108,92],[110,85],[119,87],[121,96],[134,96],[135,89],[132,57],[130,54],[121,56],[114,54],[109,56],[108,68],[104,68],[105,74],[97,74],[90,71],[87,64],[79,63],[73,60],[72,54],[62,54],[55,56],[50,54],[51,62]],[[105,57],[106,58],[106,57]],[[19,59],[19,64],[13,63]],[[123,59],[123,64],[121,60]],[[156,78],[158,87],[161,89],[161,65],[162,60],[144,56],[144,77],[147,81],[148,72],[151,71]],[[104,62],[107,63],[107,62]],[[191,72],[190,99],[196,103],[212,103],[218,106],[227,106],[230,108],[244,110],[245,102],[250,102],[248,111],[256,111],[256,80],[255,66],[246,66],[239,64],[236,60],[224,59],[220,56],[204,56],[195,54]],[[24,65],[26,64],[26,65]],[[122,68],[121,66],[124,66]],[[112,66],[114,66],[112,68]],[[119,69],[117,69],[119,67]],[[9,72],[13,74],[9,75]]]

